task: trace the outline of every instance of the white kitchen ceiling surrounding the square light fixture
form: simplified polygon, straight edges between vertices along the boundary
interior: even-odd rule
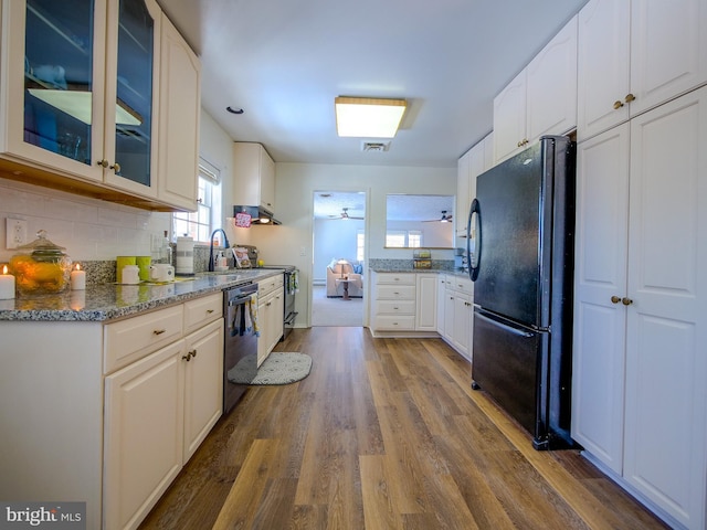
[[[202,61],[202,104],[276,162],[455,167],[493,97],[587,0],[158,0]],[[338,138],[336,96],[401,97],[384,152]],[[225,108],[243,108],[229,114]]]

